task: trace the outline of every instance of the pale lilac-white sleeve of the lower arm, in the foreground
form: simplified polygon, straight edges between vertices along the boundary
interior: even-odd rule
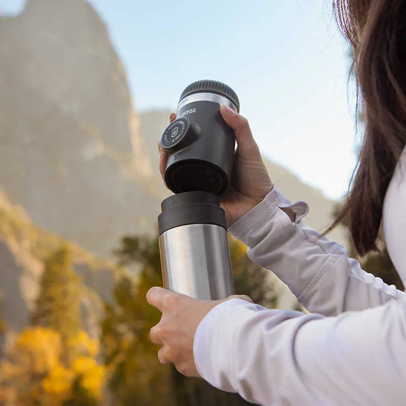
[[[336,317],[225,301],[201,321],[206,381],[261,405],[404,404],[406,302]]]

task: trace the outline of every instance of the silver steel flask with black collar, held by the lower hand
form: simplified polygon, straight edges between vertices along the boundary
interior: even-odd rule
[[[159,250],[166,289],[196,299],[234,294],[224,210],[207,192],[185,192],[162,201]]]

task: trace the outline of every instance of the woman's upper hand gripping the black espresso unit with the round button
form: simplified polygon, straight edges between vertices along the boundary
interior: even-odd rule
[[[225,210],[227,226],[230,227],[258,205],[274,185],[266,171],[247,119],[224,105],[220,106],[220,113],[224,121],[234,130],[238,145],[235,152],[231,187],[221,197],[221,207]],[[172,113],[171,123],[175,118],[176,115]],[[159,171],[163,178],[167,153],[160,143],[158,145]]]

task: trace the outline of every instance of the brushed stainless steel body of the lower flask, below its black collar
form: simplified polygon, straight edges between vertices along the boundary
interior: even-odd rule
[[[227,231],[213,224],[188,224],[159,236],[163,284],[196,299],[234,294]]]

